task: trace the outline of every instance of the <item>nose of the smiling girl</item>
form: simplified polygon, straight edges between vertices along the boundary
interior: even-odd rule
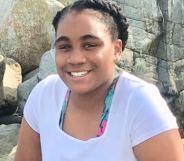
[[[73,49],[67,62],[73,65],[84,64],[86,62],[85,53],[80,49]]]

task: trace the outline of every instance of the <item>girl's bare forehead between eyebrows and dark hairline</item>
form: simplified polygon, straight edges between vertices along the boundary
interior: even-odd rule
[[[101,21],[101,13],[91,10],[69,11],[59,22],[56,38],[67,36],[76,38],[92,34],[97,37],[111,37],[107,25]]]

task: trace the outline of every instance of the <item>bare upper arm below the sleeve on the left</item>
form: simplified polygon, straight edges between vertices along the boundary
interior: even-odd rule
[[[40,135],[23,118],[14,161],[41,161]]]

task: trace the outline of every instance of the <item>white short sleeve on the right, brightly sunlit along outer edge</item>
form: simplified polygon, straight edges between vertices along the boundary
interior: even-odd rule
[[[132,146],[178,128],[176,118],[156,86],[140,87],[132,97],[129,124]]]

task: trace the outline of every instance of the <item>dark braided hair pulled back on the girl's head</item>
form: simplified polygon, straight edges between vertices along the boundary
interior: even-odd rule
[[[112,36],[112,39],[121,39],[126,44],[128,39],[128,23],[126,17],[121,13],[121,8],[108,0],[77,0],[73,4],[58,11],[53,19],[53,26],[57,32],[58,24],[66,13],[69,11],[82,12],[85,9],[91,9],[101,13],[101,21],[103,21]],[[123,45],[124,49],[124,45]],[[122,49],[122,50],[123,50]]]

